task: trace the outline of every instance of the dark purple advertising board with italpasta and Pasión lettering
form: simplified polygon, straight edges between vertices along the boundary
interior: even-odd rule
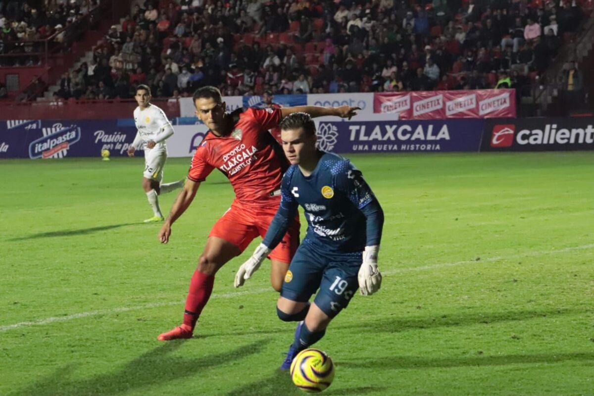
[[[134,123],[116,119],[2,121],[0,158],[99,157],[104,149],[125,156],[135,136]]]

